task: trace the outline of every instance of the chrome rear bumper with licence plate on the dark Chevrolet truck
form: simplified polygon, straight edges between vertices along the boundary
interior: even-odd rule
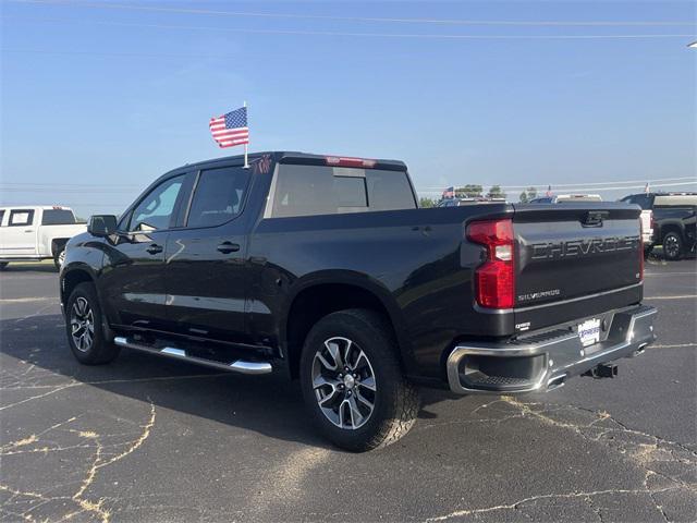
[[[448,356],[450,389],[458,394],[551,390],[601,363],[640,353],[656,340],[653,307],[614,314],[607,338],[583,346],[578,333],[559,329],[509,343],[458,344]]]

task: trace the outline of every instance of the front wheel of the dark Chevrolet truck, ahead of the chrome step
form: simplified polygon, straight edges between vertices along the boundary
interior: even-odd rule
[[[119,348],[105,337],[101,307],[91,283],[80,283],[65,307],[68,343],[73,355],[85,365],[100,365],[119,355]]]

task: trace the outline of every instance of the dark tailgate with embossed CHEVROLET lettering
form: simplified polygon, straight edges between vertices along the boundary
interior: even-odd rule
[[[558,314],[548,320],[536,315],[540,327],[583,317],[578,305],[585,300],[596,302],[588,315],[637,303],[643,278],[639,215],[636,206],[611,203],[516,206],[516,313],[576,303],[567,314],[553,307]],[[616,295],[598,300],[609,294]],[[516,314],[519,319],[529,317]]]

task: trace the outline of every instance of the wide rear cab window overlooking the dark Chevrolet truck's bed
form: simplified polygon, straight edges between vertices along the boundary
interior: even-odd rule
[[[415,208],[406,171],[280,163],[265,218]]]

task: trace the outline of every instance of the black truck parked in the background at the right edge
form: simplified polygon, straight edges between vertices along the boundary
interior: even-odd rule
[[[667,259],[680,259],[695,252],[697,193],[639,193],[621,202],[638,205],[644,212],[651,211],[653,236],[649,251],[653,245],[662,245]]]

